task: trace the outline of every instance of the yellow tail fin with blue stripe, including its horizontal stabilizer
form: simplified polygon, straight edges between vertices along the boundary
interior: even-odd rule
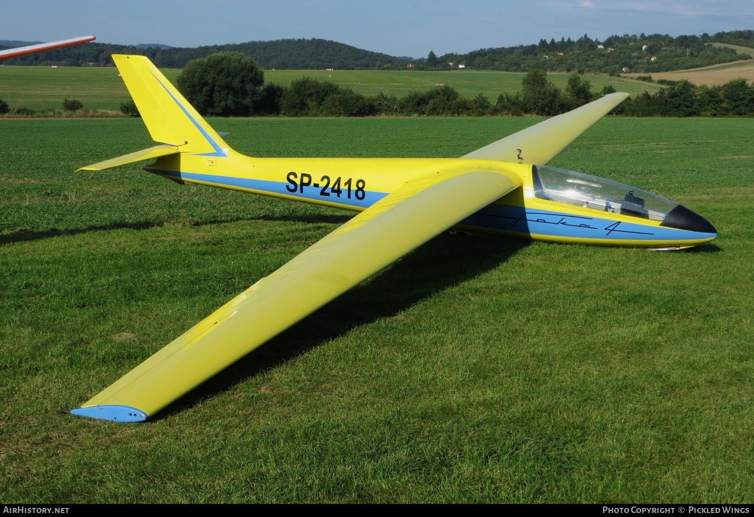
[[[175,152],[228,156],[231,152],[228,144],[147,57],[113,54],[112,59],[152,140],[164,145],[89,165],[83,170],[99,171]]]

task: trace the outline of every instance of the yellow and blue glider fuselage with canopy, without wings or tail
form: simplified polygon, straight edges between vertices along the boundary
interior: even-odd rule
[[[428,174],[496,171],[520,187],[456,229],[549,242],[680,249],[710,242],[714,227],[649,192],[573,171],[467,158],[253,158],[173,154],[143,168],[185,183],[363,211],[406,181]],[[547,186],[542,177],[547,172]],[[636,195],[639,192],[639,195]],[[627,199],[629,201],[627,201]],[[674,214],[670,217],[668,214]]]

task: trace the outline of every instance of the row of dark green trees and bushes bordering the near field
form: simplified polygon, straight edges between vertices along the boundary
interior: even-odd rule
[[[643,77],[651,80],[651,76]],[[754,85],[743,78],[722,86],[664,82],[656,93],[627,99],[613,113],[628,116],[751,116]],[[559,115],[615,92],[605,86],[593,93],[583,75],[573,73],[565,90],[547,80],[544,69],[528,72],[515,94],[500,94],[491,103],[483,94],[464,99],[451,86],[412,91],[403,97],[358,94],[333,82],[301,78],[290,86],[264,82],[264,72],[239,52],[193,60],[179,76],[177,88],[202,115],[370,116],[370,115]],[[133,114],[134,108],[128,106]]]

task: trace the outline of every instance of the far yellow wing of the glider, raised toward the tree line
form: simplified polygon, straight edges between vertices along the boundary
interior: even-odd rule
[[[556,154],[623,102],[626,97],[628,94],[623,93],[605,95],[573,111],[548,118],[531,128],[490,143],[461,158],[516,162],[520,149],[520,158],[523,162],[547,165],[547,162],[550,162]]]

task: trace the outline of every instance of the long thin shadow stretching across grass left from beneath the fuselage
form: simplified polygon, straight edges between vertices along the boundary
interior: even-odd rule
[[[207,226],[210,224],[237,223],[238,221],[293,221],[299,223],[333,223],[343,224],[354,217],[354,214],[344,215],[335,214],[294,214],[259,217],[228,217],[225,219],[213,219],[203,221],[189,221],[185,226]],[[31,231],[26,229],[16,230],[4,235],[0,235],[0,245],[13,244],[15,242],[37,241],[43,238],[60,237],[61,235],[78,235],[87,232],[103,232],[114,229],[150,229],[159,226],[166,226],[176,223],[176,221],[136,221],[134,223],[112,223],[103,225],[86,226],[85,228],[57,229],[51,228],[40,231]],[[177,223],[181,223],[178,221]],[[184,223],[182,223],[184,224]]]

